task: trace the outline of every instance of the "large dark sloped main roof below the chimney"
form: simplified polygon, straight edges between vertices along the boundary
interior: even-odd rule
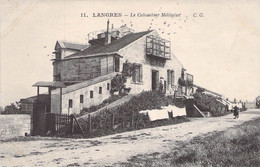
[[[108,45],[91,45],[90,47],[84,49],[81,52],[77,52],[65,57],[65,59],[95,54],[111,54],[119,51],[120,49],[124,48],[125,46],[129,45],[130,43],[136,41],[137,39],[143,37],[144,35],[150,32],[152,32],[152,30],[127,34],[122,38],[119,38],[118,40],[111,42]]]

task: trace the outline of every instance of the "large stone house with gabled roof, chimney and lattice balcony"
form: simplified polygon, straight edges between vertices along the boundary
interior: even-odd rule
[[[125,83],[130,93],[159,90],[167,95],[188,94],[179,78],[193,81],[171,50],[171,43],[155,30],[135,33],[126,26],[91,32],[89,45],[57,41],[53,80],[67,87],[51,89],[51,112],[79,114],[111,96],[111,79],[126,63],[133,65]],[[163,86],[161,86],[163,85]],[[62,92],[61,92],[62,91]]]

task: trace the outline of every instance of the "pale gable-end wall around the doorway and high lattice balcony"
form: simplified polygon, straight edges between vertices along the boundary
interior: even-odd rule
[[[156,31],[149,33],[148,35],[158,36]],[[126,87],[131,87],[130,93],[140,93],[141,91],[152,89],[152,70],[159,71],[159,78],[163,77],[167,81],[167,70],[174,70],[174,85],[178,84],[178,79],[181,76],[182,64],[171,53],[171,59],[166,60],[165,63],[160,65],[152,63],[153,60],[146,56],[146,36],[141,37],[130,45],[119,51],[119,54],[123,56],[120,59],[120,71],[123,69],[123,63],[128,60],[130,63],[140,63],[143,69],[143,81],[141,83],[132,83],[132,79],[128,78]],[[162,61],[163,62],[163,61]],[[167,88],[167,94],[173,94],[173,88]]]

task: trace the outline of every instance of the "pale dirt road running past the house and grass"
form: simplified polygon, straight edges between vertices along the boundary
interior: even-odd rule
[[[217,118],[193,118],[191,122],[126,132],[94,139],[36,137],[35,141],[2,142],[1,166],[106,166],[125,162],[138,154],[163,153],[179,141],[226,130],[260,117],[260,110]]]

